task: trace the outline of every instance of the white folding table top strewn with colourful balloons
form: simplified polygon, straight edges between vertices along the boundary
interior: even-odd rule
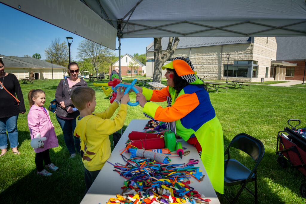
[[[116,147],[114,147],[114,150],[110,154],[110,158],[107,160],[108,162],[105,162],[104,166],[102,167],[101,171],[99,172],[98,176],[96,177],[95,181],[89,188],[88,192],[86,193],[80,204],[106,203],[110,198],[115,198],[117,193],[122,193],[123,189],[121,187],[124,184],[125,178],[120,176],[118,172],[114,171],[115,168],[110,163],[126,163],[122,159],[120,152],[122,152],[121,149],[125,147],[125,143],[129,139],[129,133],[131,133],[132,131],[144,132],[144,127],[148,121],[149,120],[147,119],[134,119],[129,123],[128,127],[122,134],[118,144],[116,145]],[[193,147],[193,145],[188,144],[185,141],[181,141],[181,143],[183,147],[186,147],[187,150],[190,151],[190,154],[187,154],[182,158],[171,158],[172,161],[170,164],[186,164],[191,158],[198,159],[199,163],[195,166],[199,166],[199,170],[202,170],[202,174],[205,176],[203,177],[203,180],[201,182],[191,177],[189,179],[192,182],[190,186],[193,187],[195,190],[199,191],[200,194],[205,195],[205,198],[211,199],[211,201],[209,202],[210,204],[220,203],[215,193],[215,190],[211,185],[211,181],[207,176],[207,172],[203,166],[198,151],[195,147]],[[130,153],[123,152],[122,155],[124,155],[126,158],[130,158]]]

